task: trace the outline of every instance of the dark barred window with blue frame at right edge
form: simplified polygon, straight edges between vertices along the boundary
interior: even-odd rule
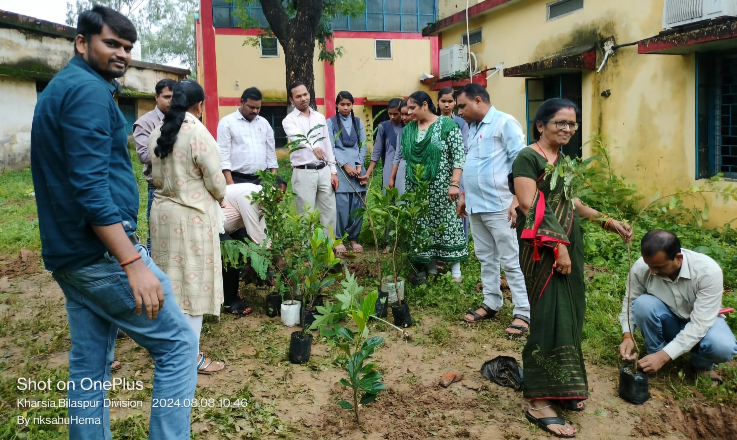
[[[737,179],[737,54],[698,54],[696,179]]]

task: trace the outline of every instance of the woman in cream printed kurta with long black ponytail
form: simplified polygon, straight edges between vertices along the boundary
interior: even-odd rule
[[[226,194],[220,149],[195,116],[202,114],[204,99],[197,82],[178,82],[169,113],[148,144],[156,186],[150,215],[151,258],[170,277],[198,345],[203,315],[219,315],[223,302],[218,203]],[[198,373],[224,368],[224,363],[199,353]]]

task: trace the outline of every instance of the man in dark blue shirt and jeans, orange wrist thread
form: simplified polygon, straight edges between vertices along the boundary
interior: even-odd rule
[[[138,243],[138,188],[128,155],[125,118],[113,79],[130,63],[136,29],[107,7],[81,13],[75,56],[36,104],[31,168],[43,262],[66,297],[71,349],[69,438],[112,439],[107,391],[84,383],[111,380],[118,327],[156,361],[150,439],[189,439],[197,339],[176,305],[169,278]],[[142,311],[145,309],[145,314]]]

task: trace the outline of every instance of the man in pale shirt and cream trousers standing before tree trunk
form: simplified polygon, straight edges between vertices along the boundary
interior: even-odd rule
[[[293,152],[289,158],[294,167],[292,173],[292,191],[297,204],[297,212],[304,213],[315,208],[321,213],[321,223],[332,227],[335,232],[335,190],[338,189],[338,170],[335,168],[335,155],[330,145],[325,116],[310,108],[310,92],[301,82],[295,82],[289,88],[289,100],[294,104],[294,111],[282,122],[284,132],[290,142],[298,140],[295,135],[310,138],[310,145],[301,142],[304,148]],[[315,129],[308,136],[310,129]]]

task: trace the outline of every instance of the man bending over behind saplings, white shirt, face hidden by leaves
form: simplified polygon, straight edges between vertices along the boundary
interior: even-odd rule
[[[262,186],[254,183],[234,183],[226,186],[226,196],[223,199],[223,214],[226,217],[223,224],[227,235],[220,235],[223,240],[251,240],[255,244],[262,244],[266,238],[266,223],[262,207],[253,202],[253,195],[261,191]],[[276,177],[276,188],[283,193],[287,192],[287,182],[282,177]],[[228,236],[229,235],[229,236]],[[244,272],[253,272],[250,266]],[[223,302],[226,304],[225,313],[236,316],[245,316],[251,313],[251,308],[242,302],[238,293],[241,270],[227,268],[223,263]]]

